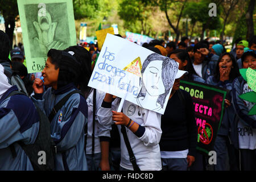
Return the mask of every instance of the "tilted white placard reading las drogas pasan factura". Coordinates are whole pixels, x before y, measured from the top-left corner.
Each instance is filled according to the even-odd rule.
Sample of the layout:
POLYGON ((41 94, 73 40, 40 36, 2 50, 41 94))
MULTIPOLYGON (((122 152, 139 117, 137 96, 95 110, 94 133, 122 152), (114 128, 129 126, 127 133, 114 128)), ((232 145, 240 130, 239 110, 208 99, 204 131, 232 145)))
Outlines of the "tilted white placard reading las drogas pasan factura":
POLYGON ((88 86, 163 114, 179 64, 108 34, 88 86))

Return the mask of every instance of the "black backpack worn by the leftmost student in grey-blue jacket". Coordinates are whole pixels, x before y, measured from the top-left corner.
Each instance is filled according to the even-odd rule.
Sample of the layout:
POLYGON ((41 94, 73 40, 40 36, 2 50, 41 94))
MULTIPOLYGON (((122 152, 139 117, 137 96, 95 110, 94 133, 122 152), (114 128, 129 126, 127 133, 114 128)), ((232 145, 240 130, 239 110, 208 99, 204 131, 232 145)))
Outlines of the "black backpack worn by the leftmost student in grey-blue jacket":
MULTIPOLYGON (((8 97, 14 96, 16 94, 23 94, 26 96, 26 94, 22 92, 13 91, 9 94, 8 97)), ((47 115, 44 114, 43 111, 39 109, 39 107, 37 107, 36 105, 35 107, 39 115, 40 122, 39 131, 38 135, 36 136, 35 142, 33 144, 24 144, 24 142, 22 141, 18 141, 15 143, 18 143, 20 147, 22 147, 22 149, 25 151, 35 171, 52 171, 55 168, 54 156, 56 154, 56 145, 51 138, 50 122, 47 115), (45 153, 40 153, 40 151, 43 151, 45 153), (46 156, 45 164, 42 163, 42 161, 40 162, 40 157, 43 155, 46 156)), ((9 147, 13 158, 15 158, 16 151, 14 143, 11 144, 9 147)))

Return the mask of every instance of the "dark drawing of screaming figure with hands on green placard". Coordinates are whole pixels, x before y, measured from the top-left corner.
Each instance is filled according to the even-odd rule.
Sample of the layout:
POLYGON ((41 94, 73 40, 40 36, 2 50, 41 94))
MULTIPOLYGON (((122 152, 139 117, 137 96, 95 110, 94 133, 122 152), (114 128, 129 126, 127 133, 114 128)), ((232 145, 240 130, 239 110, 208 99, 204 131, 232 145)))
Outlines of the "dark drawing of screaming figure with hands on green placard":
POLYGON ((65 49, 70 42, 67 3, 24 5, 31 57, 46 57, 51 48, 65 49))

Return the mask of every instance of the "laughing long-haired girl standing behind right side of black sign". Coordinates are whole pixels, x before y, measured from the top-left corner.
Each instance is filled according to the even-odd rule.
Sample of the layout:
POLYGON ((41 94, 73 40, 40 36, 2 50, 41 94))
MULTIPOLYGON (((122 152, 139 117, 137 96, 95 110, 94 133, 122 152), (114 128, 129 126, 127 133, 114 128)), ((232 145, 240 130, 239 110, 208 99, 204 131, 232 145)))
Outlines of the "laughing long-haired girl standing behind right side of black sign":
MULTIPOLYGON (((236 59, 230 53, 223 53, 217 61, 216 74, 207 79, 207 84, 232 90, 232 81, 238 76, 239 71, 236 59)), ((232 122, 230 122, 230 118, 233 118, 234 115, 230 94, 226 97, 225 104, 224 117, 222 118, 221 126, 214 143, 214 150, 217 152, 217 164, 214 165, 214 168, 217 171, 229 170, 229 164, 226 162, 228 156, 230 162, 233 160, 233 156, 228 154, 230 152, 228 148, 232 144, 230 143, 230 132, 234 127, 232 122)))

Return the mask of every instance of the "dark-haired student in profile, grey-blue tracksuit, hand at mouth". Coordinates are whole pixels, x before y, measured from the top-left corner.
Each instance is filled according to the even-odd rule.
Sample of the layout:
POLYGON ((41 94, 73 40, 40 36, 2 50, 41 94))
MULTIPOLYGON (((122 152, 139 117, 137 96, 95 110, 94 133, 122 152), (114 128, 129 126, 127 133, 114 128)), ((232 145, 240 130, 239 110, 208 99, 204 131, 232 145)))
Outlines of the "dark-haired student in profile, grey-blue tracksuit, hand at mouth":
MULTIPOLYGON (((32 100, 49 115, 64 96, 77 90, 74 82, 81 75, 81 64, 74 52, 50 49, 43 80, 36 78, 32 100), (48 86, 44 92, 43 85, 48 86)), ((51 121, 51 137, 57 146, 55 170, 86 171, 84 127, 88 118, 88 106, 84 96, 72 94, 51 121)))

